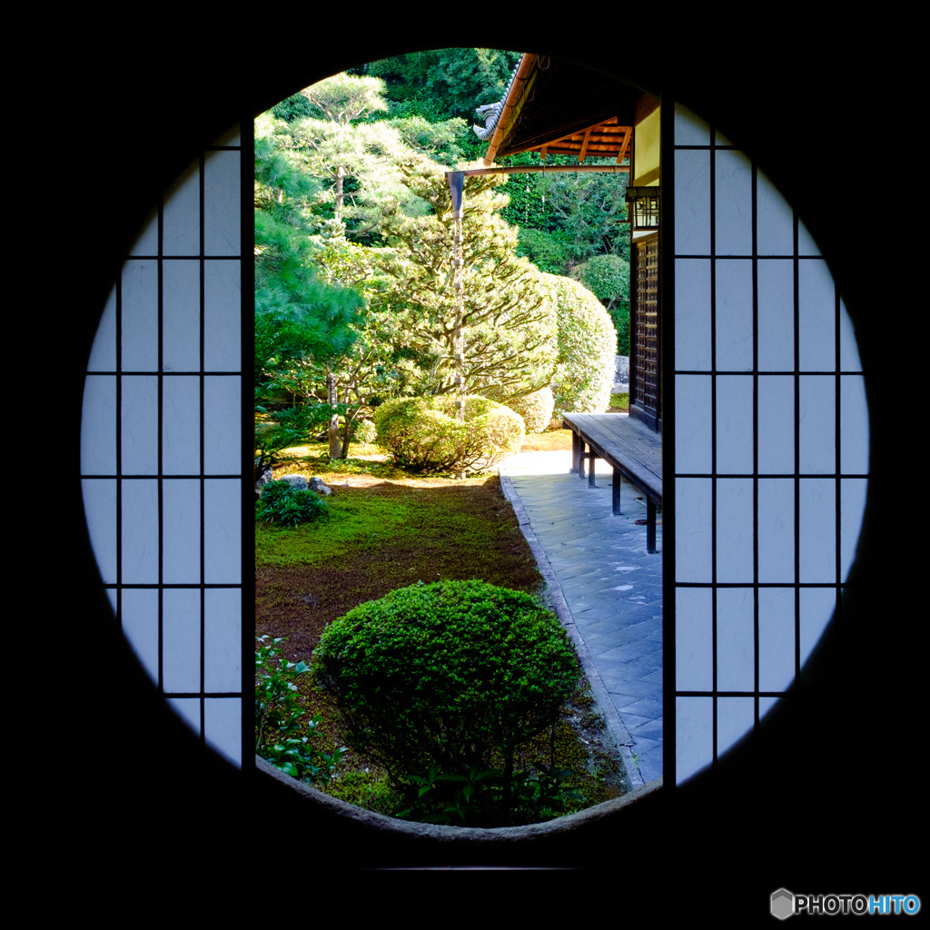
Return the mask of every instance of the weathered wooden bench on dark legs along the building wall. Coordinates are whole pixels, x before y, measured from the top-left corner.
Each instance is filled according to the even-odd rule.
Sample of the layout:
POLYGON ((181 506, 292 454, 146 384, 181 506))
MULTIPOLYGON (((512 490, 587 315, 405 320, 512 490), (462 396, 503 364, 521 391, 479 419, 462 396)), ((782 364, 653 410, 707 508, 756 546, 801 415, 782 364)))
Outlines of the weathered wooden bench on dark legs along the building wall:
POLYGON ((656 551, 656 509, 662 506, 662 437, 638 420, 617 413, 566 413, 562 425, 572 431, 572 472, 594 486, 594 459, 614 470, 613 512, 620 512, 620 476, 646 498, 646 550, 656 551), (587 449, 587 451, 586 451, 587 449))

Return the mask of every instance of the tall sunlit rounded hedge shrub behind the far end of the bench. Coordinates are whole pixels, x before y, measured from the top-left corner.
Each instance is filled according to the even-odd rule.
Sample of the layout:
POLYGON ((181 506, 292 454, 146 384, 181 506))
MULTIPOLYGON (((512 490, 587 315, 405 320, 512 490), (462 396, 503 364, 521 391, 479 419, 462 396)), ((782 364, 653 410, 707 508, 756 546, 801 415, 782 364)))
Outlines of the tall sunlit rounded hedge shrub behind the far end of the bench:
POLYGON ((587 287, 556 274, 540 274, 555 300, 559 320, 559 365, 555 410, 604 413, 614 383, 617 331, 604 305, 587 287))

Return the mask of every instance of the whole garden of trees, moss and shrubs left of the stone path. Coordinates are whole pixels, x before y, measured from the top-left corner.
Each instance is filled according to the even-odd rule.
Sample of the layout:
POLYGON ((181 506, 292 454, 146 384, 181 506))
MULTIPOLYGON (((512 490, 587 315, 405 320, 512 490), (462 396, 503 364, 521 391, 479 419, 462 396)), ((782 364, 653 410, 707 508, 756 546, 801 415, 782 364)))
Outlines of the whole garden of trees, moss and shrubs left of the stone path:
POLYGON ((466 179, 457 381, 445 171, 518 59, 374 62, 255 126, 256 751, 459 826, 625 789, 493 470, 570 447, 563 412, 624 409, 626 175, 466 179))

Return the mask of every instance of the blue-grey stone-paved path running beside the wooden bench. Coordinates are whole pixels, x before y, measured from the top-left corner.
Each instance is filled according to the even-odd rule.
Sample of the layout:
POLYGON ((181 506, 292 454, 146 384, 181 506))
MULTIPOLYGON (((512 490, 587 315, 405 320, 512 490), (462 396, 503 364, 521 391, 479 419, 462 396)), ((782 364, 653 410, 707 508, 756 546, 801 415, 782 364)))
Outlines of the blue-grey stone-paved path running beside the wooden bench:
POLYGON ((661 512, 650 555, 644 499, 623 482, 615 516, 597 465, 594 488, 569 473, 569 451, 520 453, 499 472, 636 788, 662 774, 661 512))

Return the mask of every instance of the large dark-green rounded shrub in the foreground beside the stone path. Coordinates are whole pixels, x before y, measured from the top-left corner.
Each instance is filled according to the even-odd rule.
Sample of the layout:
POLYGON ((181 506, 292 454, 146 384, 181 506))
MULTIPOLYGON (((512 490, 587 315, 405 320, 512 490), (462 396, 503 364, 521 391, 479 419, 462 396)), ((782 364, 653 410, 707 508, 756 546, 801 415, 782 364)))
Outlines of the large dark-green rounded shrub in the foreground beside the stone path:
POLYGON ((333 622, 313 653, 349 741, 392 777, 488 768, 556 718, 578 662, 523 591, 443 581, 392 591, 333 622))

